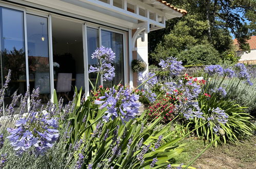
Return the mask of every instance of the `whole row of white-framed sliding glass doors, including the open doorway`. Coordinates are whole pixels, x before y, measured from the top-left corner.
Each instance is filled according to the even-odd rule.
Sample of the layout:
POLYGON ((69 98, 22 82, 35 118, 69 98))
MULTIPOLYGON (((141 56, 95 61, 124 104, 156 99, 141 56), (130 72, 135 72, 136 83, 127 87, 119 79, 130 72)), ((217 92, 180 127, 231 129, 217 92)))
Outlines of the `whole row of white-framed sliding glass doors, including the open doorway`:
POLYGON ((125 32, 82 20, 15 6, 9 8, 9 5, 0 7, 2 86, 8 70, 12 71, 5 105, 10 104, 15 93, 24 95, 28 87, 30 91, 40 89, 43 103, 51 99, 54 88, 68 100, 73 96, 74 86, 88 93, 89 79, 93 83, 96 80, 96 75, 88 74, 88 69, 99 62, 91 55, 100 46, 111 48, 116 55, 115 77, 110 82, 99 79, 97 86, 111 87, 119 82, 124 85, 124 36, 125 32))

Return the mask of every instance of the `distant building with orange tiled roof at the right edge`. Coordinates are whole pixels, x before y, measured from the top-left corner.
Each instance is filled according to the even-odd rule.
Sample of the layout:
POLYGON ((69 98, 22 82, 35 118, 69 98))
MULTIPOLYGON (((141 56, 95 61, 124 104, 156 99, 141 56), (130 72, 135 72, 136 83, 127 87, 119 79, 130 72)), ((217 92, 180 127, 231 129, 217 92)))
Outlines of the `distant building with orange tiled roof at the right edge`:
POLYGON ((250 53, 240 50, 238 40, 234 39, 234 45, 238 47, 237 55, 240 57, 239 62, 243 62, 244 64, 256 64, 256 36, 251 36, 247 43, 250 45, 250 53))

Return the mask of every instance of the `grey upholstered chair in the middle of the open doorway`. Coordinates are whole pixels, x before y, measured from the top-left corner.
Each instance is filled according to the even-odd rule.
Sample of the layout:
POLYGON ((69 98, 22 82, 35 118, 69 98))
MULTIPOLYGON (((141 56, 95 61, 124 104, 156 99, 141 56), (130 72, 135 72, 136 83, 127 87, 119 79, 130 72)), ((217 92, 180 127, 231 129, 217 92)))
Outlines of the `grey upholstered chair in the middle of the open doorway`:
MULTIPOLYGON (((63 93, 70 101, 67 93, 71 91, 72 73, 58 73, 56 92, 63 93)), ((60 95, 59 95, 60 98, 60 95)))

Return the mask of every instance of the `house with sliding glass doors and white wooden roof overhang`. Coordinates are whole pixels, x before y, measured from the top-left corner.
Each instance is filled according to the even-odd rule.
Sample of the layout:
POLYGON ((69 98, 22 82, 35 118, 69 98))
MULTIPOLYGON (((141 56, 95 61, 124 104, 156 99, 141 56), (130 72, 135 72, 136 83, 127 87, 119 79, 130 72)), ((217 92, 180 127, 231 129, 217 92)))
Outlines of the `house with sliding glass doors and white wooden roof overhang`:
POLYGON ((2 85, 11 69, 8 97, 28 86, 40 87, 47 99, 71 85, 89 94, 91 54, 105 46, 116 54, 116 76, 100 83, 136 86, 131 61, 147 62, 147 33, 186 13, 162 0, 0 0, 2 85))

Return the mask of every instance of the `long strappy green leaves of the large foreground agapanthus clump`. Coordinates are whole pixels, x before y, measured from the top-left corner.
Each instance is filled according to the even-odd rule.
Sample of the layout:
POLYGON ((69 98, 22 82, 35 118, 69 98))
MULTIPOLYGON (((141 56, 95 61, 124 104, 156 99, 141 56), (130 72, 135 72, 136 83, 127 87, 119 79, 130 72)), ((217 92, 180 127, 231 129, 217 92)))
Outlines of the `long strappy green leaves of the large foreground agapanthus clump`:
MULTIPOLYGON (((104 93, 104 89, 100 89, 100 93, 104 93)), ((99 93, 99 92, 98 92, 99 93)), ((102 117, 105 115, 106 109, 98 110, 95 107, 93 100, 94 97, 89 97, 83 105, 80 105, 81 92, 76 95, 74 100, 75 109, 69 114, 68 121, 70 121, 69 130, 71 136, 67 142, 67 149, 69 144, 75 145, 80 139, 84 140, 80 149, 74 153, 73 159, 77 159, 78 153, 83 153, 85 156, 84 166, 92 164, 93 168, 97 165, 110 168, 150 168, 149 164, 152 159, 157 157, 157 167, 163 167, 168 165, 168 160, 179 155, 182 151, 182 145, 173 146, 180 139, 176 138, 169 141, 155 151, 151 151, 154 147, 154 143, 160 135, 163 135, 163 139, 168 137, 168 126, 163 126, 161 131, 155 130, 159 124, 161 118, 156 119, 152 123, 148 123, 149 116, 145 111, 139 118, 130 120, 126 123, 122 122, 120 118, 103 122, 102 117), (86 121, 83 122, 84 117, 86 121), (92 137, 92 133, 96 130, 96 125, 102 124, 101 132, 97 133, 95 137, 92 137), (115 132, 117 131, 117 134, 115 132), (104 137, 107 134, 107 139, 104 137), (142 139, 143 138, 143 139, 142 139), (119 139, 120 144, 120 156, 113 156, 112 149, 115 145, 115 140, 119 139), (132 140, 130 149, 128 149, 128 142, 132 140), (142 147, 138 147, 138 142, 141 140, 144 146, 150 144, 150 151, 147 152, 145 162, 140 165, 140 161, 136 159, 136 155, 142 150, 142 147), (135 150, 135 152, 133 152, 135 150), (113 156, 112 159, 109 158, 113 156)), ((70 167, 75 165, 76 160, 72 160, 70 167)))

